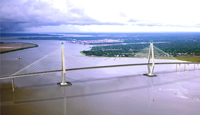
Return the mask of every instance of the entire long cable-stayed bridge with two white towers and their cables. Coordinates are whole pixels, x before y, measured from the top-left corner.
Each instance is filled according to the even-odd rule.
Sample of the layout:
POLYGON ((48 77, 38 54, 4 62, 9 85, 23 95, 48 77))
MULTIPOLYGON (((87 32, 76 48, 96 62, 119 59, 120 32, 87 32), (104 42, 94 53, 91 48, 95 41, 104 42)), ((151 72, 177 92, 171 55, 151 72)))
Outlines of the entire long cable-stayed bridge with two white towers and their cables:
MULTIPOLYGON (((154 62, 154 56, 155 56, 154 48, 155 47, 153 46, 153 43, 151 42, 150 43, 150 48, 145 50, 145 52, 148 53, 148 55, 147 55, 148 56, 148 62, 147 63, 106 65, 106 66, 93 66, 93 67, 81 67, 81 68, 65 69, 64 45, 62 43, 61 56, 60 56, 61 57, 61 61, 62 61, 61 63, 56 63, 56 64, 53 64, 53 65, 49 66, 46 63, 51 63, 51 61, 50 61, 51 59, 50 60, 46 60, 45 58, 44 59, 40 59, 42 61, 45 61, 45 64, 44 63, 38 64, 37 62, 40 61, 40 60, 38 60, 38 61, 34 62, 33 64, 25 67, 24 69, 12 74, 12 75, 1 76, 0 79, 12 78, 12 84, 13 84, 13 90, 14 90, 14 78, 32 76, 32 75, 39 75, 39 74, 48 74, 48 73, 61 72, 62 73, 62 82, 58 83, 58 85, 59 86, 68 86, 68 85, 71 85, 71 83, 65 81, 65 77, 66 77, 65 73, 66 73, 66 71, 76 71, 76 70, 86 70, 86 69, 99 69, 99 68, 113 68, 113 67, 126 67, 126 66, 142 66, 142 65, 144 66, 144 65, 146 65, 148 73, 144 74, 144 75, 146 75, 148 77, 154 77, 154 76, 156 76, 153 73, 155 65, 176 64, 176 72, 180 72, 181 64, 184 65, 184 71, 188 71, 189 70, 189 65, 191 65, 191 64, 194 65, 194 70, 198 70, 198 68, 199 68, 199 62, 162 62, 162 63, 155 63, 154 62), (37 67, 39 67, 39 68, 37 68, 37 69, 39 69, 39 71, 37 69, 35 69, 34 66, 36 66, 36 65, 37 65, 37 67), (46 67, 46 69, 42 68, 44 66, 46 67)), ((155 49, 158 49, 158 48, 155 48, 155 49)), ((160 49, 158 49, 157 52, 163 53, 163 51, 160 50, 160 49)), ((159 55, 159 54, 156 54, 156 55, 159 55)), ((166 56, 170 57, 167 54, 166 54, 166 56)), ((49 57, 51 57, 51 56, 49 56, 49 57)))

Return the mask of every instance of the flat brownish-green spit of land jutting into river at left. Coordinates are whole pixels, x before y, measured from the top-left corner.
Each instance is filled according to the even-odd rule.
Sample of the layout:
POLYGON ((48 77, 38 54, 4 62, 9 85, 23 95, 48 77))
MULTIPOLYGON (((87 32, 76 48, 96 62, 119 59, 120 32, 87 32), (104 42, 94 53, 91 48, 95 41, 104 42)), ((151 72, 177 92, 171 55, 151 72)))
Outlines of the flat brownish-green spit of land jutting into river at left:
POLYGON ((38 45, 32 43, 21 43, 21 42, 0 42, 0 54, 17 50, 24 50, 33 47, 38 47, 38 45))

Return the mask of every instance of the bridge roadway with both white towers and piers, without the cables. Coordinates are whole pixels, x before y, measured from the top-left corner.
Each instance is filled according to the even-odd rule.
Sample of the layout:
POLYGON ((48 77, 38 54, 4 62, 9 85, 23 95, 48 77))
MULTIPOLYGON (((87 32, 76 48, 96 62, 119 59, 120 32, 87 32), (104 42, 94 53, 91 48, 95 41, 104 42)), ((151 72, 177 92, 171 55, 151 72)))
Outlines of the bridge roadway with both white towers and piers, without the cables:
POLYGON ((42 71, 42 72, 34 72, 34 73, 25 73, 25 74, 1 76, 0 79, 12 78, 12 88, 13 88, 13 91, 14 91, 14 78, 18 78, 18 77, 25 77, 25 76, 32 76, 32 75, 40 75, 40 74, 61 72, 62 73, 62 82, 57 83, 58 86, 70 86, 72 84, 70 82, 66 82, 65 81, 66 71, 147 65, 148 73, 147 74, 143 74, 143 75, 148 76, 148 77, 155 77, 155 76, 157 76, 157 75, 153 74, 155 65, 176 64, 176 72, 178 73, 178 72, 180 72, 181 64, 184 64, 184 71, 188 71, 189 70, 189 65, 190 64, 194 64, 194 70, 198 71, 199 64, 200 64, 200 62, 162 62, 162 63, 155 63, 154 62, 154 48, 153 48, 153 43, 152 42, 150 43, 150 48, 149 48, 148 63, 106 65, 106 66, 93 66, 93 67, 81 67, 81 68, 65 69, 65 57, 64 57, 64 45, 63 45, 63 43, 62 43, 62 47, 61 47, 61 60, 62 60, 62 66, 61 66, 60 70, 42 71), (152 62, 150 62, 150 60, 152 60, 152 62), (197 68, 195 67, 195 65, 197 65, 197 68), (150 66, 151 66, 151 69, 150 69, 150 66), (186 66, 187 66, 187 70, 186 70, 186 66))

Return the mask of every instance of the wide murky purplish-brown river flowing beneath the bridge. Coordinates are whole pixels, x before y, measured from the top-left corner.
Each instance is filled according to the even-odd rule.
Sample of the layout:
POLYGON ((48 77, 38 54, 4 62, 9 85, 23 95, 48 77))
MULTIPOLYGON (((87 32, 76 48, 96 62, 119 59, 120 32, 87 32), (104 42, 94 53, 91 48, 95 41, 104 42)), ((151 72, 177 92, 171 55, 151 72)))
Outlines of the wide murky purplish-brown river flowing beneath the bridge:
MULTIPOLYGON (((13 40, 12 40, 13 42, 13 40)), ((16 40, 39 47, 0 54, 0 78, 61 69, 61 42, 16 40), (21 57, 22 59, 18 59, 21 57)), ((87 57, 91 46, 64 42, 66 68, 146 63, 139 58, 87 57)), ((155 60, 155 62, 178 62, 155 60)), ((156 65, 157 77, 146 77, 147 66, 66 72, 72 86, 59 87, 61 73, 0 79, 2 115, 199 115, 200 70, 189 65, 156 65)))

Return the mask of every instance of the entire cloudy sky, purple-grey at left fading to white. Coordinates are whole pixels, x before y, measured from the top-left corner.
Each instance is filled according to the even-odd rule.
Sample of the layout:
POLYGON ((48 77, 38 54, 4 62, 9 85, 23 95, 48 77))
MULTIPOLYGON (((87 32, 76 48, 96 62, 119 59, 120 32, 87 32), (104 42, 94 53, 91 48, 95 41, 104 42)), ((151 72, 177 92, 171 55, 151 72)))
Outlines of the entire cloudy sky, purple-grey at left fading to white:
POLYGON ((200 32, 199 0, 1 0, 1 32, 200 32))

